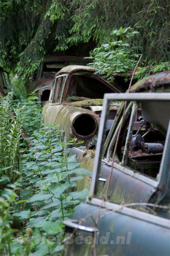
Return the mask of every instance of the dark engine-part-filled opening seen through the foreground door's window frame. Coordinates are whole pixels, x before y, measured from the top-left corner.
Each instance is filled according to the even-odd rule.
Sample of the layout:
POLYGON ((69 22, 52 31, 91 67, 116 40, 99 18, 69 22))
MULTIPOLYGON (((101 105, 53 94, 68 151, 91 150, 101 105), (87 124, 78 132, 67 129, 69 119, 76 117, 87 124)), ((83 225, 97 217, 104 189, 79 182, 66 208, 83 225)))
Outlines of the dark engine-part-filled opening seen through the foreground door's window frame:
MULTIPOLYGON (((138 113, 140 111, 138 110, 138 113)), ((136 113, 135 113, 136 115, 136 113)), ((129 125, 129 117, 123 123, 121 135, 117 147, 115 161, 121 162, 126 145, 126 137, 129 125)), ((136 135, 137 127, 140 127, 142 116, 136 115, 133 123, 132 138, 127 152, 126 167, 138 171, 151 178, 156 178, 159 173, 165 136, 149 122, 145 122, 136 135)))

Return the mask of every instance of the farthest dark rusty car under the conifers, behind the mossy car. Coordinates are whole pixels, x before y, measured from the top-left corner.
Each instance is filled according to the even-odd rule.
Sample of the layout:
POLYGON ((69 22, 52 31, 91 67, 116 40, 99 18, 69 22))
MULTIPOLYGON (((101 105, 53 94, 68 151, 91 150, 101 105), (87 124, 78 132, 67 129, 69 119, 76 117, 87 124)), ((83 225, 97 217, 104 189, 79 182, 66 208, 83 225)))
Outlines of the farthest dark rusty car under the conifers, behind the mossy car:
POLYGON ((87 65, 90 62, 84 57, 77 56, 48 56, 41 63, 37 72, 31 77, 27 85, 28 94, 38 92, 39 101, 48 101, 53 79, 58 71, 68 65, 87 65))

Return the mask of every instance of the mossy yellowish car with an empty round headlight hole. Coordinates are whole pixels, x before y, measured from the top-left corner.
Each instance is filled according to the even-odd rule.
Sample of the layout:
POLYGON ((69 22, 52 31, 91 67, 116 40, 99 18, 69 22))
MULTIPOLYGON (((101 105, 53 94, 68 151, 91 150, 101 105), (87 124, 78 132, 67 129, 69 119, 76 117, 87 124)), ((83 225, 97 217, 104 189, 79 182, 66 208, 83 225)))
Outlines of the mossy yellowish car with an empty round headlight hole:
MULTIPOLYGON (((97 139, 104 93, 119 92, 95 73, 94 68, 70 65, 61 69, 53 80, 52 90, 43 107, 45 124, 60 124, 65 141, 77 138, 86 148, 93 148, 97 139)), ((109 130, 119 103, 110 106, 109 130)))

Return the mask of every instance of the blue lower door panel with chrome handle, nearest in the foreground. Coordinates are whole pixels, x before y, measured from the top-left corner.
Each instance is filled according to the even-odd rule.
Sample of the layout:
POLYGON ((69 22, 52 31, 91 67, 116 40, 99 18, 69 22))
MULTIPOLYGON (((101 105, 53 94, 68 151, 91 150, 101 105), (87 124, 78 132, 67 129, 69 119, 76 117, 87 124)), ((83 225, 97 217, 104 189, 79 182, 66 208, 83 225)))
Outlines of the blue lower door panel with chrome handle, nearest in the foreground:
POLYGON ((100 256, 169 256, 168 223, 165 227, 160 225, 163 218, 156 217, 155 223, 156 221, 150 221, 150 214, 147 214, 146 221, 139 217, 139 211, 128 211, 135 211, 136 216, 109 211, 107 208, 101 208, 99 211, 98 206, 90 204, 77 206, 72 220, 77 220, 76 223, 81 221, 81 225, 77 229, 71 222, 66 226, 66 233, 75 233, 69 240, 70 243, 65 242, 62 256, 94 255, 94 246, 96 255, 100 256), (100 218, 102 215, 105 217, 100 218), (98 231, 94 243, 95 229, 98 231))

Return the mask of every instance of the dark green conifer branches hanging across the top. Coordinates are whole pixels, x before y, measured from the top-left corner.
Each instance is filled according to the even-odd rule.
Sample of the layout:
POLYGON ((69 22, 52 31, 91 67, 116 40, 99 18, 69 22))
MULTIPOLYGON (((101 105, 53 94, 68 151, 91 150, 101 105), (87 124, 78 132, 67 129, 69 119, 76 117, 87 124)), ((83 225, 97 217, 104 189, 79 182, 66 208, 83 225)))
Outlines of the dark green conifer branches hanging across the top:
POLYGON ((88 55, 121 27, 139 32, 133 49, 145 64, 165 62, 169 7, 168 0, 1 0, 0 65, 29 75, 44 55, 88 55))

